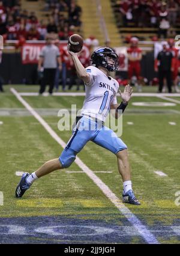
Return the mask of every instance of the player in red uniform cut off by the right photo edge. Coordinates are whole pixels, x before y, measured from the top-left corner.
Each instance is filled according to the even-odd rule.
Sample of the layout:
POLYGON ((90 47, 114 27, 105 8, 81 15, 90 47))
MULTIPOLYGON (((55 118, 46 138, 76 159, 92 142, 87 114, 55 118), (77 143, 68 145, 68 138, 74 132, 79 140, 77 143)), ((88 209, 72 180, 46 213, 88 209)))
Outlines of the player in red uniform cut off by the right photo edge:
POLYGON ((177 86, 178 83, 178 66, 179 66, 179 60, 178 60, 178 52, 179 50, 175 47, 175 42, 172 38, 168 40, 169 44, 169 51, 172 52, 173 58, 172 58, 172 81, 173 81, 173 87, 176 93, 180 93, 180 90, 177 86))

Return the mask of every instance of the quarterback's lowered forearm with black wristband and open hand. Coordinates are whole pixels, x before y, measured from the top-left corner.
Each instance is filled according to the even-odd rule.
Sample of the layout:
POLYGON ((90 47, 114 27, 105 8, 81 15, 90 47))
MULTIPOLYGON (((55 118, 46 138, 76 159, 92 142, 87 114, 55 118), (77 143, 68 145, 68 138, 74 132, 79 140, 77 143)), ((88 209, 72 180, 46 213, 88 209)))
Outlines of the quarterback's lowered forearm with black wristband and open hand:
POLYGON ((122 113, 125 111, 125 108, 128 105, 128 102, 131 99, 131 94, 133 93, 133 88, 130 87, 130 85, 126 85, 124 88, 124 93, 121 93, 121 90, 119 90, 119 94, 121 96, 122 102, 121 104, 112 104, 110 105, 110 109, 115 109, 116 113, 115 113, 115 118, 118 119, 120 117, 121 114, 119 114, 118 112, 122 111, 122 113))

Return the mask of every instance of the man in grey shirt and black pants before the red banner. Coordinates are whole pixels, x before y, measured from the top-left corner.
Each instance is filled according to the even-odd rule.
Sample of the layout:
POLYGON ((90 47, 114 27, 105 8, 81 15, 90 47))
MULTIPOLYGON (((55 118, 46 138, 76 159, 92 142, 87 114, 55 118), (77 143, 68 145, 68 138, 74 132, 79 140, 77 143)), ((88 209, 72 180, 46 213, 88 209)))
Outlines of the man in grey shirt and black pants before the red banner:
POLYGON ((38 71, 41 72, 41 66, 44 67, 43 79, 40 87, 40 94, 46 90, 46 85, 49 84, 49 94, 53 93, 55 82, 56 68, 59 64, 59 69, 62 69, 59 49, 53 45, 52 38, 46 38, 46 46, 43 47, 40 53, 38 62, 38 71))

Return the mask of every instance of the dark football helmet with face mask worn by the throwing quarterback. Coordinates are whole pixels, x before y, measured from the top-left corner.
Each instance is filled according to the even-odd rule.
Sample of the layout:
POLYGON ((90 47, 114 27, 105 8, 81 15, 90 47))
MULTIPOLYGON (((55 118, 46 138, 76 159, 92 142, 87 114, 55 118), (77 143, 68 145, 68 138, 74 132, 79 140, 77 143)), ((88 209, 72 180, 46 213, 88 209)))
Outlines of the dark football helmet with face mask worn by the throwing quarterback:
POLYGON ((109 72, 116 71, 119 67, 118 55, 109 47, 101 47, 95 50, 92 53, 91 60, 96 67, 104 67, 109 72))

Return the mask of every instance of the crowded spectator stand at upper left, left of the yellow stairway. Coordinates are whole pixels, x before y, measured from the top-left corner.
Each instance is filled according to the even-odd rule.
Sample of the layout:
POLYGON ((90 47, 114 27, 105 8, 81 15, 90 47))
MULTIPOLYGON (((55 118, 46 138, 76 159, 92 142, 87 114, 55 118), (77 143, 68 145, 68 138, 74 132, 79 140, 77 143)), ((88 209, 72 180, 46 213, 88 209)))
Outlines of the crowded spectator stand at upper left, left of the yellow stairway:
POLYGON ((51 33, 67 40, 81 32, 81 13, 74 0, 0 1, 0 34, 5 40, 44 40, 51 33))

